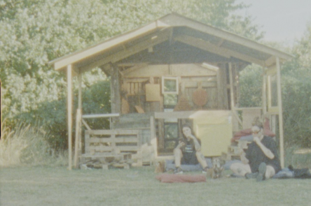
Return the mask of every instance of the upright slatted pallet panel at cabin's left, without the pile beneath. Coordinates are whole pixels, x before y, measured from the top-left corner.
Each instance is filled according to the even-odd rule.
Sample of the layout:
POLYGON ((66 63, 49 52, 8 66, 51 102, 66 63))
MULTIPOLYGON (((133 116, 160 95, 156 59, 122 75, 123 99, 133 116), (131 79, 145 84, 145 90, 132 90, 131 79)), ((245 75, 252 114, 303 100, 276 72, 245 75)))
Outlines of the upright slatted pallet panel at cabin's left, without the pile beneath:
POLYGON ((133 165, 142 165, 141 131, 139 130, 88 130, 85 131, 85 154, 114 154, 130 152, 133 165))

